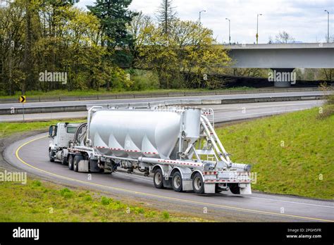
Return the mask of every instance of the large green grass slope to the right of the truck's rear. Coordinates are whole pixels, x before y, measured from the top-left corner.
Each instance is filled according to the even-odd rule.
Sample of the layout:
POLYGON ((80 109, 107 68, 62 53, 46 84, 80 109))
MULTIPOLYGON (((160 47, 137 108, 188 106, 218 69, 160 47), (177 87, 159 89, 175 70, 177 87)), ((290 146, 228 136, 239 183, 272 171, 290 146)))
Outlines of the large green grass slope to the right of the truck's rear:
POLYGON ((319 114, 313 108, 222 127, 217 133, 234 162, 253 165, 253 189, 333 199, 333 111, 326 106, 319 114))

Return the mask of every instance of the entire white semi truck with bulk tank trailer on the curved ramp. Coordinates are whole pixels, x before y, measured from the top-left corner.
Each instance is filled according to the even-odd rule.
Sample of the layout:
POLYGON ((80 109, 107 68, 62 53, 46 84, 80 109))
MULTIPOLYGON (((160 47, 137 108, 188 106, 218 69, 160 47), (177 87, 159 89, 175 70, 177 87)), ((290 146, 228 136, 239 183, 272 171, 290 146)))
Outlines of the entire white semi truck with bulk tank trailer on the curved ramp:
POLYGON ((231 161, 211 118, 201 108, 93 106, 87 122, 49 128, 49 158, 75 172, 152 175, 159 189, 252 194, 251 165, 231 161))

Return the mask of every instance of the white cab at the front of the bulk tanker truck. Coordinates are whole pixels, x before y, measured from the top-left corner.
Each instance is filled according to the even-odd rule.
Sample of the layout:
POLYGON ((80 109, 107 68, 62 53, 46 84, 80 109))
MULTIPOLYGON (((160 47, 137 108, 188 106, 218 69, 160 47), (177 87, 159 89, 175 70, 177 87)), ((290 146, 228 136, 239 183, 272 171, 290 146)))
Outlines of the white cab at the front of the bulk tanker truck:
POLYGON ((49 160, 61 161, 64 165, 67 163, 68 146, 73 142, 75 132, 80 123, 58 122, 49 127, 49 160))

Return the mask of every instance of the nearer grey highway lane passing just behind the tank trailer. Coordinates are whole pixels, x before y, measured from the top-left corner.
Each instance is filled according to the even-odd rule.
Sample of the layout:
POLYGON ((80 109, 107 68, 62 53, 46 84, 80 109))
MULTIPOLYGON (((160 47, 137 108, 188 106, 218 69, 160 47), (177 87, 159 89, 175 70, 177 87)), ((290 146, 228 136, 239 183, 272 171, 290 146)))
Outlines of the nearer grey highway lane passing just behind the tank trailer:
MULTIPOLYGON (((274 115, 292 111, 304 110, 316 106, 321 106, 324 101, 283 101, 264 103, 235 103, 226 105, 208 105, 202 108, 213 108, 216 122, 228 122, 243 118, 257 118, 266 115, 274 115)), ((85 118, 86 111, 66 112, 66 113, 37 113, 26 114, 25 120, 54 120, 64 118, 85 118)), ((23 120, 23 115, 0 115, 0 122, 19 122, 23 120)))

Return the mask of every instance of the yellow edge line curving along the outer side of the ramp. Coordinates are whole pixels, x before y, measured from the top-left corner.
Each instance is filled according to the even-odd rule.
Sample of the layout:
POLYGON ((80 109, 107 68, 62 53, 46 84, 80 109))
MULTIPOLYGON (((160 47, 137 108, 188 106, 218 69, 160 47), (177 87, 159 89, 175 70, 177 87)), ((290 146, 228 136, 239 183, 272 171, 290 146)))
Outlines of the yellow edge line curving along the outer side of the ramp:
POLYGON ((140 194, 142 196, 152 196, 152 197, 156 197, 156 198, 159 198, 159 199, 168 199, 168 200, 180 201, 180 202, 184 202, 184 203, 194 203, 194 204, 200 204, 200 205, 204 205, 204 206, 214 206, 214 207, 218 207, 218 208, 227 208, 227 209, 232 209, 232 210, 237 210, 237 211, 246 211, 246 212, 249 212, 249 213, 261 213, 261 214, 265 214, 265 215, 276 215, 276 216, 283 216, 283 217, 288 217, 288 218, 299 218, 299 219, 304 219, 304 220, 317 220, 317 221, 324 221, 324 222, 334 222, 334 220, 322 220, 322 219, 318 219, 318 218, 309 218, 309 217, 303 217, 303 216, 298 216, 298 215, 287 215, 287 214, 283 214, 283 213, 271 213, 271 212, 266 212, 266 211, 252 210, 252 209, 248 209, 248 208, 237 208, 237 207, 233 207, 233 206, 224 206, 224 205, 218 205, 218 204, 214 204, 214 203, 202 203, 202 202, 199 202, 199 201, 176 199, 176 198, 169 197, 169 196, 159 196, 159 195, 148 194, 148 193, 139 192, 139 191, 131 191, 131 190, 128 190, 128 189, 122 189, 122 188, 118 188, 118 187, 109 187, 109 186, 106 186, 106 185, 103 185, 103 184, 97 184, 97 183, 87 182, 87 181, 83 181, 83 180, 76 180, 76 179, 66 177, 66 176, 63 176, 63 175, 57 175, 53 172, 48 172, 46 170, 36 168, 35 166, 30 165, 29 163, 26 163, 25 161, 22 160, 22 158, 20 158, 20 156, 18 154, 18 152, 20 151, 20 149, 23 148, 23 146, 26 146, 27 144, 30 144, 31 142, 35 142, 35 141, 37 141, 39 139, 43 139, 45 137, 47 137, 47 136, 32 139, 29 142, 25 142, 24 144, 20 145, 18 147, 18 149, 16 150, 16 158, 18 158, 18 160, 21 161, 23 164, 29 166, 30 168, 34 168, 35 170, 39 170, 41 172, 46 172, 49 175, 54 175, 54 176, 60 177, 62 179, 71 180, 71 181, 75 181, 75 182, 80 182, 80 183, 83 183, 83 184, 90 184, 90 185, 94 185, 96 187, 104 187, 104 188, 108 188, 108 189, 114 189, 114 190, 117 190, 117 191, 132 193, 132 194, 140 194))

